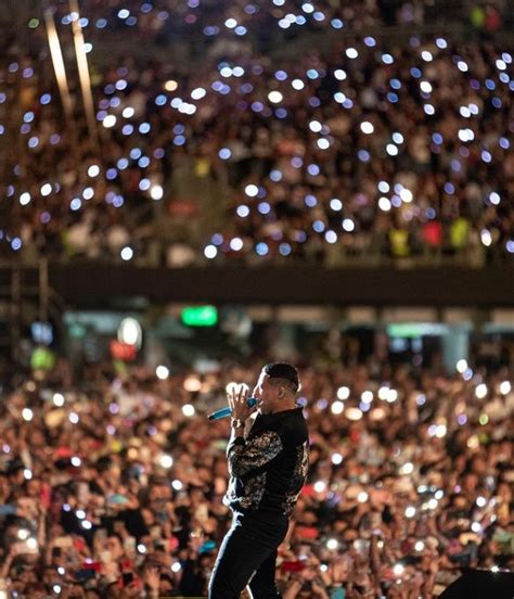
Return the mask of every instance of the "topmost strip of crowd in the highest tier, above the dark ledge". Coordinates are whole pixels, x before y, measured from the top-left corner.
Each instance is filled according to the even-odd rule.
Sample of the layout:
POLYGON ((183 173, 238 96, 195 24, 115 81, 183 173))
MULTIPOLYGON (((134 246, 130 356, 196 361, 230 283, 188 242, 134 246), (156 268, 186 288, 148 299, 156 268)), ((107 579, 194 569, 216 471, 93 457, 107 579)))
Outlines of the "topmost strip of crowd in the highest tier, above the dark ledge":
MULTIPOLYGON (((272 0, 270 5, 246 0, 222 5, 213 0, 83 0, 79 8, 87 20, 83 26, 89 27, 93 38, 102 33, 119 37, 128 33, 138 41, 150 40, 158 44, 180 42, 181 38, 187 38, 185 43, 194 39, 200 44, 223 37, 235 40, 249 38, 259 49, 267 49, 273 43, 273 29, 277 33, 293 26, 294 31, 294 25, 309 31, 326 26, 362 30, 388 25, 411 27, 445 24, 449 20, 460 18, 473 24, 478 30, 493 33, 501 27, 503 18, 510 16, 509 7, 498 0, 348 0, 343 4, 331 0, 313 3, 272 0), (301 18, 287 26, 283 17, 291 12, 301 18)), ((70 23, 69 9, 64 1, 51 7, 63 25, 70 23)), ((37 2, 33 2, 28 9, 28 16, 40 17, 37 2)))

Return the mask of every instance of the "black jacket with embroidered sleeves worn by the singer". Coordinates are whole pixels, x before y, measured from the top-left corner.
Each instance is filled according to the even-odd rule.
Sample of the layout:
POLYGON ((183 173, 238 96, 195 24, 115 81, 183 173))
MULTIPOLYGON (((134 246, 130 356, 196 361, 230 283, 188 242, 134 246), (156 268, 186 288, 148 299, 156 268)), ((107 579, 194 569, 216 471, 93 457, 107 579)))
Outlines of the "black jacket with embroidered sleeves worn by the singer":
POLYGON ((230 483, 223 498, 234 511, 288 515, 304 486, 309 437, 301 408, 258 415, 246 439, 227 447, 230 483))

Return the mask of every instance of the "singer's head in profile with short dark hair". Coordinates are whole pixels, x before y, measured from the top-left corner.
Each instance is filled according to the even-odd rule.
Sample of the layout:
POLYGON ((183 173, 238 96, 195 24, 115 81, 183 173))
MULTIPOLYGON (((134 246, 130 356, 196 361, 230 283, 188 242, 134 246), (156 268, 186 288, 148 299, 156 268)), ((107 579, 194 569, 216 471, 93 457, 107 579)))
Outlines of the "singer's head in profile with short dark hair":
POLYGON ((293 409, 299 388, 298 371, 294 366, 272 362, 262 368, 253 395, 261 413, 273 413, 293 409))

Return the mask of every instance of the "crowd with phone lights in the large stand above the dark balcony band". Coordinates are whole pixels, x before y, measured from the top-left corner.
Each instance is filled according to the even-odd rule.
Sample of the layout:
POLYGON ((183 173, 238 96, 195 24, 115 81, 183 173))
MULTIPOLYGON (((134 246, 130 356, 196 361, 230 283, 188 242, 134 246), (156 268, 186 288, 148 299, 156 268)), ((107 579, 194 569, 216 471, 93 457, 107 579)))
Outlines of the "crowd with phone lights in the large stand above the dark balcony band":
MULTIPOLYGON (((159 20, 157 4, 141 23, 145 14, 159 20)), ((102 5, 119 21, 120 2, 102 5)), ((254 16, 279 20, 257 21, 274 44, 259 49, 227 37, 235 13, 189 5, 223 27, 211 43, 203 35, 201 52, 191 38, 197 61, 157 46, 140 52, 130 26, 116 35, 132 44, 111 55, 114 34, 98 20, 93 27, 88 11, 97 4, 85 3, 95 132, 73 66, 75 16, 64 4, 56 21, 72 120, 48 48, 35 41, 46 39, 42 18, 29 21, 25 47, 3 47, 2 254, 170 266, 512 259, 509 48, 494 38, 381 39, 367 34, 363 17, 323 46, 306 35, 304 21, 317 14, 309 3, 301 14, 279 0, 257 15, 246 14, 253 4, 234 7, 248 30, 254 16)), ((363 10, 380 14, 380 3, 363 10)), ((339 21, 316 23, 335 30, 339 21)))

